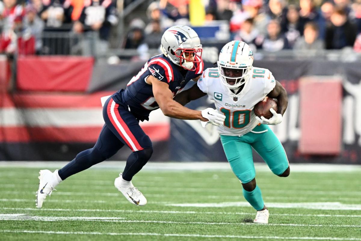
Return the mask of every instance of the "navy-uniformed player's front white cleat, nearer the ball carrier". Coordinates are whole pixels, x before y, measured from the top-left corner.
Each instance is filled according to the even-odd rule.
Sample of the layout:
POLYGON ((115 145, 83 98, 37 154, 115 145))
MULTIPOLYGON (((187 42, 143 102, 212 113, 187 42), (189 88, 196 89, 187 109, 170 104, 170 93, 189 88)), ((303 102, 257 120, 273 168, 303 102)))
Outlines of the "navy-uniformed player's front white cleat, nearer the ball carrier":
POLYGON ((122 173, 119 173, 119 177, 115 178, 114 186, 128 199, 129 202, 143 206, 147 204, 147 199, 144 195, 133 186, 130 182, 129 186, 122 186, 122 173))

